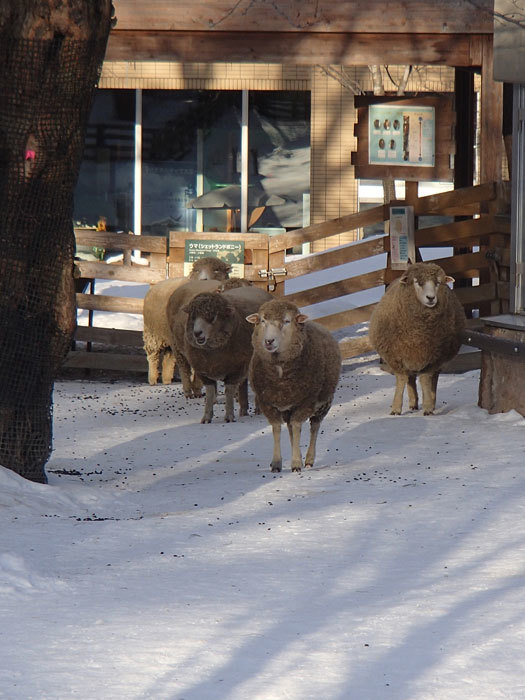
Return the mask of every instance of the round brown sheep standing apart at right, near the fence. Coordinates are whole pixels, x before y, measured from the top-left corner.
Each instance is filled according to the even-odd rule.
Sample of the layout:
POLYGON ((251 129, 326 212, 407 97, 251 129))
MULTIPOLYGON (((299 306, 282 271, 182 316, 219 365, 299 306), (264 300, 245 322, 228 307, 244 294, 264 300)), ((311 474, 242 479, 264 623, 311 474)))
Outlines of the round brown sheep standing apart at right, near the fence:
POLYGON ((447 286, 452 282, 435 263, 409 265, 372 313, 370 343, 396 378, 391 415, 401 414, 405 385, 410 409, 418 408, 418 376, 423 414, 434 413, 439 373, 457 354, 466 323, 461 303, 447 286))

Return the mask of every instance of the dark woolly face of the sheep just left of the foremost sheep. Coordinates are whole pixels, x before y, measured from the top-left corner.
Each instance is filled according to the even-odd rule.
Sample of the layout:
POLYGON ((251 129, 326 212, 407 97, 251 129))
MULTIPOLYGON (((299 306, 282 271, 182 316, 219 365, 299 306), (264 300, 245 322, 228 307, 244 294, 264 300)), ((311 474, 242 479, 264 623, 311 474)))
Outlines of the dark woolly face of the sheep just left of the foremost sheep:
POLYGON ((221 348, 230 340, 235 310, 222 295, 199 294, 183 310, 188 314, 186 338, 193 347, 221 348))

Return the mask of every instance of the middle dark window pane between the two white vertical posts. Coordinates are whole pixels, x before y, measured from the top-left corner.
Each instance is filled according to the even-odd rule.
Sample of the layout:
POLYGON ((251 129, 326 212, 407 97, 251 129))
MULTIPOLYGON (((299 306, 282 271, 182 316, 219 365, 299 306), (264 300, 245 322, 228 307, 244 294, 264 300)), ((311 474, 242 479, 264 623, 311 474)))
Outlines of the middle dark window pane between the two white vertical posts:
MULTIPOLYGON (((188 203, 239 184, 240 124, 239 91, 144 91, 143 233, 197 230, 198 210, 188 203)), ((220 201, 203 206, 203 230, 225 231, 227 209, 220 201)))

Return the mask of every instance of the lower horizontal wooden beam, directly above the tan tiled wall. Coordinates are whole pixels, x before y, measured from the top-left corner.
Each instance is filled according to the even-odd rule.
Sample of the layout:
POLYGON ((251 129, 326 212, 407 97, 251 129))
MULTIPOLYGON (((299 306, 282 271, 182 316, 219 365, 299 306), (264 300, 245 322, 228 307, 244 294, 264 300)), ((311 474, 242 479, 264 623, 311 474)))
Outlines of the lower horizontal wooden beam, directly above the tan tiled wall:
MULTIPOLYGON (((375 18, 377 24, 377 17, 375 18)), ((148 26, 148 25, 144 25, 148 26)), ((368 65, 391 63, 472 66, 469 34, 356 34, 119 30, 110 34, 107 61, 368 65)))

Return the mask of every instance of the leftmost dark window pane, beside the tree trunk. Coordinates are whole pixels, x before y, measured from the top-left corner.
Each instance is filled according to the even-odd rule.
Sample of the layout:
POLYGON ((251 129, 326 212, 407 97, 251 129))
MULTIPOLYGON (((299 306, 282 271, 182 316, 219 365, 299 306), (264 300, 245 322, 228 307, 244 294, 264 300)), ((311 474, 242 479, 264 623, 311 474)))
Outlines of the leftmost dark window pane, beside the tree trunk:
POLYGON ((135 91, 98 90, 75 190, 74 220, 133 230, 135 91))

